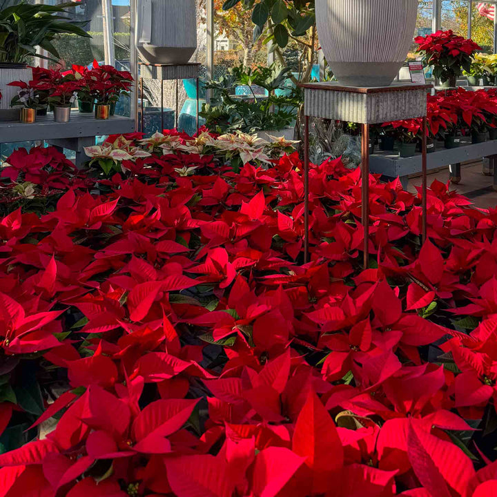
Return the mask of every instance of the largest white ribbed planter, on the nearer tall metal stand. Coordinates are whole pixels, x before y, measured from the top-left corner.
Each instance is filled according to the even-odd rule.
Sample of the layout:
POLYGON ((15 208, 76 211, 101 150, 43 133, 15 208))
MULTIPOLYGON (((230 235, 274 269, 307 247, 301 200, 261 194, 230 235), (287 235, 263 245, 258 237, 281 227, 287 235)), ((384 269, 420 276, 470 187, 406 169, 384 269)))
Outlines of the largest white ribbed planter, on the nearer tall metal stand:
POLYGON ((411 46, 418 0, 315 0, 318 38, 339 83, 388 86, 411 46))

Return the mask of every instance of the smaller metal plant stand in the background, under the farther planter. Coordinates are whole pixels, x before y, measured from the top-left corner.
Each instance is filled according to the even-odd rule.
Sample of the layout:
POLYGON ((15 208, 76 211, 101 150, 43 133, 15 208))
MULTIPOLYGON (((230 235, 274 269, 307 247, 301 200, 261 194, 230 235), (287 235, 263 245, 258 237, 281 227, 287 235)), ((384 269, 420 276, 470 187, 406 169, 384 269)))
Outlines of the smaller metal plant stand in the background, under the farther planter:
MULTIPOLYGON (((199 62, 188 62, 188 64, 149 64, 148 62, 139 62, 139 95, 140 95, 140 131, 144 133, 144 79, 159 79, 161 82, 161 130, 164 130, 164 81, 176 81, 176 113, 175 128, 179 121, 179 79, 195 79, 197 81, 197 132, 199 129, 199 62)), ((138 111, 138 109, 137 109, 138 111)))

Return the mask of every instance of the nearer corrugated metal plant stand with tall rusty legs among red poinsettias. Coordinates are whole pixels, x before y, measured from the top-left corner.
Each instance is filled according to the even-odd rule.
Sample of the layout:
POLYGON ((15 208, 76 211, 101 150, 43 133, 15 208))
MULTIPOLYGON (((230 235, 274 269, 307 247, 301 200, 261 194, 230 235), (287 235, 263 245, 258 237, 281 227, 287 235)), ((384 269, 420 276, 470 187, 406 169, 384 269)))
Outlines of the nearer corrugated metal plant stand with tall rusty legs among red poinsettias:
POLYGON ((398 119, 422 117, 422 242, 427 236, 427 92, 428 84, 393 83, 359 88, 336 82, 306 83, 304 88, 304 262, 309 262, 309 117, 361 124, 361 223, 364 269, 369 259, 369 128, 398 119))

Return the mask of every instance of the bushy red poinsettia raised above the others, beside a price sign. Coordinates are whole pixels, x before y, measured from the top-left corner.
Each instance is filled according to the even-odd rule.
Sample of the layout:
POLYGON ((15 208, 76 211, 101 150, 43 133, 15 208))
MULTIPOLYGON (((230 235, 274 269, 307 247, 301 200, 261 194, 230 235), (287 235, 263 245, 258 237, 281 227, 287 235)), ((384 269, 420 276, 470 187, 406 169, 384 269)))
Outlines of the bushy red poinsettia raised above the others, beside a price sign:
POLYGON ((465 39, 452 32, 437 31, 425 37, 416 37, 416 53, 425 66, 433 66, 433 76, 440 78, 443 86, 455 87, 462 70, 471 71, 472 57, 480 46, 472 39, 465 39))

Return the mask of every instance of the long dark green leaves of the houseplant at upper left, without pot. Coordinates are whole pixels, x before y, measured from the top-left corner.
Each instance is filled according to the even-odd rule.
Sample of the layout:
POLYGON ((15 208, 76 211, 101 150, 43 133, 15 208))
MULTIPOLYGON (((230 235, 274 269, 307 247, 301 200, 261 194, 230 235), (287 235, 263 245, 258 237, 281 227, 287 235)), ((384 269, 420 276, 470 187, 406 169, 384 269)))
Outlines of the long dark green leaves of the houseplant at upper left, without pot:
POLYGON ((59 57, 52 40, 63 33, 90 37, 83 29, 87 21, 71 21, 67 8, 77 3, 49 6, 21 1, 0 11, 0 62, 25 63, 30 57, 52 59, 59 57), (52 57, 36 52, 43 48, 52 57))

